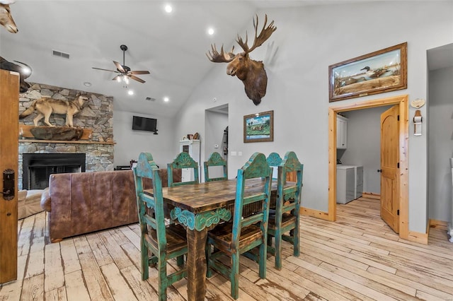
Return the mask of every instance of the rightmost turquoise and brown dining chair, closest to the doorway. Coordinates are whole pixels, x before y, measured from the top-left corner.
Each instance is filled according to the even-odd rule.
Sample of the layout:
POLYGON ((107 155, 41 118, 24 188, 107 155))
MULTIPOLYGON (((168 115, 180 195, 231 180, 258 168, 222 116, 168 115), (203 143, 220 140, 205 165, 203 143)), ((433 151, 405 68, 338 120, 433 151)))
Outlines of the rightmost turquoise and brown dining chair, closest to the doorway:
MULTIPOLYGON (((288 151, 283 159, 271 154, 268 163, 278 168, 277 176, 277 201, 275 210, 269 214, 268 225, 268 252, 275 256, 275 268, 282 269, 282 241, 293 244, 294 256, 299 256, 299 223, 300 223, 300 196, 302 190, 302 175, 304 165, 299 162, 293 151, 288 151), (296 182, 287 184, 287 174, 296 173, 296 182), (274 237, 272 244, 271 237, 274 237)), ((277 154, 278 155, 278 154, 277 154)))

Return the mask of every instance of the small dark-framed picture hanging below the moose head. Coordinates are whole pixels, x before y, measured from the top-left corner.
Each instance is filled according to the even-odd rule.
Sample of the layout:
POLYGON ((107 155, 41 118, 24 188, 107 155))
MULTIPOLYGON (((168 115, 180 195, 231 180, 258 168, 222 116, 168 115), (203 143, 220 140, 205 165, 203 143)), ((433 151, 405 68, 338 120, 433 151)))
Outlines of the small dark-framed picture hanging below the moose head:
POLYGON ((274 141, 274 111, 243 117, 243 142, 274 141))

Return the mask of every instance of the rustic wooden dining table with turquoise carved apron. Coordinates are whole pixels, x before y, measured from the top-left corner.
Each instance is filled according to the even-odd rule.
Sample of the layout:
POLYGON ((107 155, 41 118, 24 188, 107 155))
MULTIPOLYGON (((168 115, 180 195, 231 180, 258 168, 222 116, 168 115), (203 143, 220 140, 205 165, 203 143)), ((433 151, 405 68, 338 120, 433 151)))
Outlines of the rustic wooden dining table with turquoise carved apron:
MULTIPOLYGON (((247 179, 244 190, 246 196, 262 191, 264 182, 260 178, 247 179)), ((144 193, 152 196, 152 189, 144 190, 144 193)), ((236 199, 236 179, 163 187, 162 194, 168 217, 183 225, 187 232, 188 300, 205 300, 207 231, 222 221, 231 220, 236 199)), ((276 195, 277 180, 274 179, 270 196, 271 207, 275 204, 276 195)), ((243 214, 253 214, 253 211, 259 209, 251 204, 244 208, 243 214)))

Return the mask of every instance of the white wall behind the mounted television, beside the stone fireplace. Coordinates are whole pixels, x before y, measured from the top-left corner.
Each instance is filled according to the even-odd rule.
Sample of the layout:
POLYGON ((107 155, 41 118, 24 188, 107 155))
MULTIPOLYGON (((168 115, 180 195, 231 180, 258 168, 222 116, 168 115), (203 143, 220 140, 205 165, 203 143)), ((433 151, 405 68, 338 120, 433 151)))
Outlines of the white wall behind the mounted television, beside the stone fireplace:
POLYGON ((129 165, 130 160, 137 160, 139 154, 148 152, 160 168, 166 168, 167 163, 173 161, 178 154, 179 147, 175 138, 173 120, 166 117, 159 117, 147 114, 131 112, 113 113, 113 138, 115 140, 116 165, 129 165), (158 135, 151 131, 132 131, 132 116, 149 117, 157 119, 158 135))

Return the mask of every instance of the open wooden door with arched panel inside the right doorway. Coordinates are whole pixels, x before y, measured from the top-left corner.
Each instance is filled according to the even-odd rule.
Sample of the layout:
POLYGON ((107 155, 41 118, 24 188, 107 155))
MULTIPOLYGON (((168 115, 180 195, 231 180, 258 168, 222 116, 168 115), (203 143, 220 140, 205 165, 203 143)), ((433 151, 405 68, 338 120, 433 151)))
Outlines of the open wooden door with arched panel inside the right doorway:
POLYGON ((381 218, 399 232, 399 107, 381 114, 381 218))

